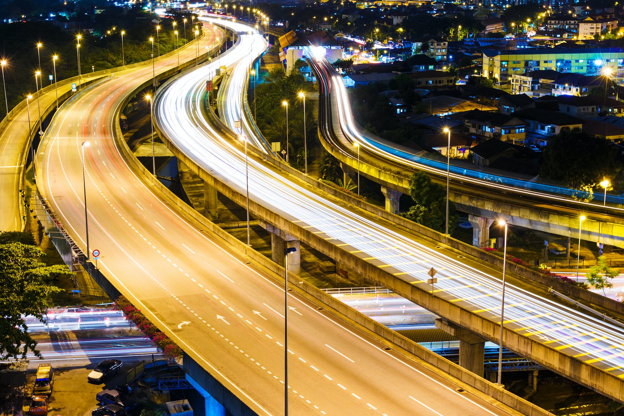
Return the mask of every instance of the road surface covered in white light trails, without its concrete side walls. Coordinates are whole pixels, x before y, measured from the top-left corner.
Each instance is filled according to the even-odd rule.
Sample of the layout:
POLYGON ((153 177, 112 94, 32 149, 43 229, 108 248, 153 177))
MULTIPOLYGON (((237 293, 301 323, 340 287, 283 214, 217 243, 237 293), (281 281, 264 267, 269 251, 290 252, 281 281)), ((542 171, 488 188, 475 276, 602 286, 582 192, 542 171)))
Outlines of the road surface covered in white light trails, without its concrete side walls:
MULTIPOLYGON (((251 37, 241 36, 237 48, 245 52, 253 48, 251 37)), ((232 57, 230 66, 240 59, 235 53, 222 56, 222 64, 228 56, 232 57)), ((210 126, 197 111, 202 82, 208 72, 209 67, 197 69, 161 90, 155 101, 155 122, 198 166, 244 194, 244 151, 210 126)), ((241 107, 245 79, 245 72, 232 71, 228 83, 220 89, 227 103, 220 116, 232 131, 237 131, 235 122, 240 117, 237 109, 241 107)), ((243 134, 253 132, 244 130, 243 134)), ((261 159, 251 157, 248 166, 252 201, 422 289, 432 290, 427 284, 427 272, 434 267, 438 279, 434 294, 499 324, 501 282, 487 265, 470 264, 454 252, 332 201, 313 187, 291 181, 261 159)), ((549 297, 508 283, 504 325, 562 354, 624 376, 624 334, 620 328, 549 297)))

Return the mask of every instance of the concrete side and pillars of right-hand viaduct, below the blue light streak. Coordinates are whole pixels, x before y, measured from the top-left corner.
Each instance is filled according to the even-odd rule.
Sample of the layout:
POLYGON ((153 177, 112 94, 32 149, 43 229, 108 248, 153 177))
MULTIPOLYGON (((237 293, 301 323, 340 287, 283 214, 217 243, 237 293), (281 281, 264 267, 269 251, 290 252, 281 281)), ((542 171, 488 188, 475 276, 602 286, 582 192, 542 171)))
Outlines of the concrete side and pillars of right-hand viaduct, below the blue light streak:
MULTIPOLYGON (((343 120, 344 111, 339 106, 347 106, 344 99, 338 100, 341 92, 336 86, 329 86, 329 80, 324 74, 334 72, 331 65, 324 59, 321 62, 310 61, 320 82, 323 93, 319 97, 327 101, 328 125, 319 130, 319 138, 323 147, 336 157, 346 175, 357 182, 358 147, 354 146, 354 138, 347 134, 346 122, 343 120), (324 71, 319 71, 319 65, 324 71), (328 94, 327 91, 332 91, 328 94), (340 104, 339 104, 340 102, 340 104), (331 114, 331 116, 329 116, 331 114)), ((343 86, 344 87, 344 86, 343 86)), ((358 131, 359 172, 371 181, 382 187, 386 196, 386 209, 397 213, 399 197, 409 191, 409 177, 418 169, 417 164, 401 159, 387 157, 374 147, 366 146, 361 136, 373 137, 374 142, 388 149, 396 149, 406 154, 414 151, 381 137, 363 131, 361 127, 349 120, 348 126, 358 131)), ((319 127, 324 124, 319 123, 319 127)), ((454 162, 456 163, 456 162, 454 162)), ((459 162, 461 163, 461 162, 459 162)), ((446 161, 444 163, 446 165, 446 161)), ((466 164, 466 168, 470 166, 466 164)), ((420 165, 422 169, 425 167, 420 165)), ((446 168, 446 166, 444 166, 446 168)), ((475 169, 474 166, 472 169, 475 169)), ((446 169, 442 174, 438 171, 426 170, 434 182, 446 186, 446 169)), ((619 207, 577 201, 562 196, 549 196, 544 192, 532 192, 529 189, 514 189, 490 181, 474 181, 470 177, 451 174, 451 194, 449 199, 456 204, 458 210, 471 215, 473 225, 473 245, 484 247, 489 238, 489 225, 492 220, 507 219, 509 224, 534 230, 562 235, 563 237, 578 238, 579 217, 585 215, 587 219, 582 224, 582 239, 598 241, 617 247, 624 247, 624 210, 619 207)), ((569 244, 569 240, 568 240, 569 244)))

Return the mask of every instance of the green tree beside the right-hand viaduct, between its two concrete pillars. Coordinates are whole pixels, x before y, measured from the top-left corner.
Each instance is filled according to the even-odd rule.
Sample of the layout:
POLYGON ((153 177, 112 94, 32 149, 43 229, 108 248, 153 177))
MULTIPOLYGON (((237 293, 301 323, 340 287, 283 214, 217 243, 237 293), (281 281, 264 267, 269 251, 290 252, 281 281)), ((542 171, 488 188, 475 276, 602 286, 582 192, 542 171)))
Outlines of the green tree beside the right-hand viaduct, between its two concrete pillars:
MULTIPOLYGON (((409 195, 416 203, 401 215, 425 227, 444 232, 446 222, 446 189, 434 184, 425 172, 418 171, 409 179, 409 195)), ((449 202, 449 234, 457 226, 455 204, 449 202)))

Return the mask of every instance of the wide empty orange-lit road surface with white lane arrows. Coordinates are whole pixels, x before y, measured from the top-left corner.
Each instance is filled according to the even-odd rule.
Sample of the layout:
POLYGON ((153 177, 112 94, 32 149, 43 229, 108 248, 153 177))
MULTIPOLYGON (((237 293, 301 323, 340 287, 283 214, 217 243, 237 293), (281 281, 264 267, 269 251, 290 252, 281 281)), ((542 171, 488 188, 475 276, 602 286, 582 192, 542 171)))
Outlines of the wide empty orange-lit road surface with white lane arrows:
MULTIPOLYGON (((207 37, 210 39, 210 35, 207 37)), ((185 59, 188 59, 187 56, 185 59)), ((283 412, 284 292, 144 186, 117 149, 112 115, 151 67, 117 74, 64 109, 41 148, 47 200, 120 291, 258 414, 283 412)), ((502 414, 291 295, 292 414, 502 414)))

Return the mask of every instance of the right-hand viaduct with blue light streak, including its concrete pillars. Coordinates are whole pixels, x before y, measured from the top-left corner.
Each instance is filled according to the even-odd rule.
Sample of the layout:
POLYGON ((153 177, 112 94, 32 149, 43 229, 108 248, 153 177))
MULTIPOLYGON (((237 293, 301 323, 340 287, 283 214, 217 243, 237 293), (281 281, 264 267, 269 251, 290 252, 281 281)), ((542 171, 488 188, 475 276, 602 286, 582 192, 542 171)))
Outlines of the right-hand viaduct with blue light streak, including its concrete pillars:
MULTIPOLYGON (((386 209, 398 212, 399 197, 409 191, 409 177, 416 170, 427 172, 446 186, 446 161, 417 156, 400 146, 364 131, 353 119, 348 94, 341 77, 322 56, 306 48, 308 62, 321 84, 319 99, 326 102, 326 130, 319 134, 325 149, 338 158, 343 170, 356 182, 358 171, 379 183, 386 195, 386 209), (331 115, 331 118, 330 118, 331 115)), ((320 124, 320 122, 319 122, 320 124)), ((583 201, 585 192, 497 176, 477 170, 466 162, 451 160, 450 197, 457 209, 471 214, 473 245, 483 247, 492 220, 506 219, 509 224, 542 230, 564 237, 577 237, 579 217, 582 239, 624 247, 624 208, 622 198, 607 196, 607 207, 597 201, 583 201), (489 219, 489 221, 484 220, 489 219)))

